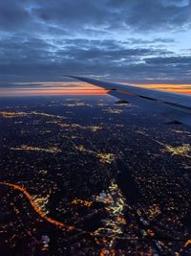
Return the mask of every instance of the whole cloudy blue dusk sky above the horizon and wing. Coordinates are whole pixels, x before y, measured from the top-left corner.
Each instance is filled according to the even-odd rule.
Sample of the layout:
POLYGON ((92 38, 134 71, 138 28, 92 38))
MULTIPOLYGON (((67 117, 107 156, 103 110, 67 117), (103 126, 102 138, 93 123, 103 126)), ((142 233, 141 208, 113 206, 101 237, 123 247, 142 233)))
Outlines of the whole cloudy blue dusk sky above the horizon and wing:
POLYGON ((66 75, 154 88, 174 84, 187 92, 191 1, 0 1, 1 94, 18 87, 99 90, 66 75))

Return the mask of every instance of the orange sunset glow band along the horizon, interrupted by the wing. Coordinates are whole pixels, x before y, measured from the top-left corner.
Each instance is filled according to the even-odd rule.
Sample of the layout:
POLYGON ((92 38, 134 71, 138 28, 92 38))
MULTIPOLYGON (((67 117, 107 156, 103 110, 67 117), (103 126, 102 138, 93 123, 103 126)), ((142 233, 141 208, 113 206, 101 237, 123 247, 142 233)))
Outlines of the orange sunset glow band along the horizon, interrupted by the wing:
MULTIPOLYGON (((1 88, 0 96, 1 97, 2 96, 3 97, 52 96, 52 95, 104 96, 107 94, 107 90, 86 82, 36 81, 36 82, 17 82, 15 84, 17 85, 17 87, 1 88), (24 85, 27 85, 27 86, 24 86, 24 85)), ((133 84, 133 85, 141 88, 150 88, 155 90, 166 90, 166 91, 182 93, 182 94, 191 94, 191 84, 145 83, 145 84, 133 84)))

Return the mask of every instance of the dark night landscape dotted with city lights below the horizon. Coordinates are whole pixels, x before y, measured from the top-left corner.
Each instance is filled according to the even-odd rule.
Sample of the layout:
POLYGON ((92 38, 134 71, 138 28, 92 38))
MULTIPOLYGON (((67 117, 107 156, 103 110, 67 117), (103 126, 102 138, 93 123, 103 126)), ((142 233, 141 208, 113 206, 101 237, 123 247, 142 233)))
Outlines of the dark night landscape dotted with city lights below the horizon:
POLYGON ((1 255, 191 253, 190 129, 115 102, 1 100, 1 255))

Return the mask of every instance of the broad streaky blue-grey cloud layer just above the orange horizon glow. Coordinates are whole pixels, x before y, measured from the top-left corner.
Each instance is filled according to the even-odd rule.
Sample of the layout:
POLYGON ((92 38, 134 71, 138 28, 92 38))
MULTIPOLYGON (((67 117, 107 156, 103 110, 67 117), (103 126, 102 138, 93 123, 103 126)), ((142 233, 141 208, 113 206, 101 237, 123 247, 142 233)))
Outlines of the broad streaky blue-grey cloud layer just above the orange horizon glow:
POLYGON ((128 81, 177 80, 181 74, 186 80, 190 71, 190 58, 173 57, 164 49, 134 48, 108 39, 66 39, 61 48, 54 43, 39 38, 22 41, 21 37, 2 41, 1 81, 62 81, 70 74, 128 81))

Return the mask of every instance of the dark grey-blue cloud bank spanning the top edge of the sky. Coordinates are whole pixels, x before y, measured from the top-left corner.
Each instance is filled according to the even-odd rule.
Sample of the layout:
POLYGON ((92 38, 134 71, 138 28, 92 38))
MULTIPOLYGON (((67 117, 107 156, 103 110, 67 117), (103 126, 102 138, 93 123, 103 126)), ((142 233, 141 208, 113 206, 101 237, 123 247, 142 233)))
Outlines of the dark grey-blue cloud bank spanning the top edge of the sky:
POLYGON ((0 3, 0 28, 27 30, 38 24, 58 31, 178 29, 190 23, 190 7, 189 0, 9 0, 0 3))

